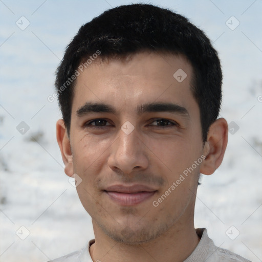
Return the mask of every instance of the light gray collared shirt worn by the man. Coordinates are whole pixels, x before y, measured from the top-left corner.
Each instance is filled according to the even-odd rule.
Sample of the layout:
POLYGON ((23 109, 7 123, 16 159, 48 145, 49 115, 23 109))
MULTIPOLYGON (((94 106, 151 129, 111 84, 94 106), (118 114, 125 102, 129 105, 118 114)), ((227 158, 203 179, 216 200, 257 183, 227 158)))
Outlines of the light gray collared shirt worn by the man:
MULTIPOLYGON (((251 262, 227 249, 216 247, 207 235, 205 228, 197 228, 200 242, 192 254, 184 262, 251 262)), ((89 242, 88 247, 69 255, 52 260, 53 262, 93 262, 90 256, 90 246, 95 243, 95 239, 89 242)), ((51 262, 51 261, 48 261, 51 262)))

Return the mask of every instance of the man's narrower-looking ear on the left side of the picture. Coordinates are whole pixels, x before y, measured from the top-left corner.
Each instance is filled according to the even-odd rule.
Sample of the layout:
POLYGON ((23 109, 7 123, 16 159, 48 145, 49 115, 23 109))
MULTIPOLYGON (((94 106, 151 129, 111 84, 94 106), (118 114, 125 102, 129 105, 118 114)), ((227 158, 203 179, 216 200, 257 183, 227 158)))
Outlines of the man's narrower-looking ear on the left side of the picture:
POLYGON ((59 119, 56 122, 56 139, 64 163, 64 172, 69 177, 72 177, 74 174, 73 156, 70 147, 70 139, 67 134, 67 128, 65 128, 64 121, 62 119, 59 119))

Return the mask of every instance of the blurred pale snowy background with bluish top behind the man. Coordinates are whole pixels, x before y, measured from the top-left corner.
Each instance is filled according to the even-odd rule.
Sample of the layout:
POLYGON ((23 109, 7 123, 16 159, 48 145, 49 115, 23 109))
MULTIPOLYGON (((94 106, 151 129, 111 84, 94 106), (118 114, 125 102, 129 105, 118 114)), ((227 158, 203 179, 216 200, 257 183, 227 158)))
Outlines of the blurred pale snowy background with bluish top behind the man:
MULTIPOLYGON (((79 27, 130 3, 0 1, 0 261, 44 262, 94 237, 91 219, 63 172, 55 138, 60 113, 47 97, 79 27)), ((262 1, 151 3, 203 29, 223 65, 221 116, 232 134, 222 166, 199 187, 195 227, 207 228, 217 246, 262 261, 262 1)))

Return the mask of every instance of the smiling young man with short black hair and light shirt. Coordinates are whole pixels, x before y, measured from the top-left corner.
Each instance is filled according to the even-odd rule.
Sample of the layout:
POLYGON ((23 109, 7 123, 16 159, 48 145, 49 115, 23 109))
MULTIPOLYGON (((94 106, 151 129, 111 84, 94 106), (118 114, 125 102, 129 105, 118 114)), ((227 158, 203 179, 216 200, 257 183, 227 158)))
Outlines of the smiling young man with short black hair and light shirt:
POLYGON ((194 228, 200 173, 223 160, 228 125, 210 40, 152 5, 82 26, 57 69, 57 141, 92 217, 89 246, 53 261, 248 261, 194 228))

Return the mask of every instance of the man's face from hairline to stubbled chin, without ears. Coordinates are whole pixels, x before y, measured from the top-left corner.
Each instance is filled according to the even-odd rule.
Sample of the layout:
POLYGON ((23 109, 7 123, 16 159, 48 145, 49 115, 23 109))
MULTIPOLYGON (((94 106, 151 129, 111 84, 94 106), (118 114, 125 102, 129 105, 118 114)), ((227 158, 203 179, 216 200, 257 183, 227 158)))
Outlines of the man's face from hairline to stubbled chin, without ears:
POLYGON ((67 173, 82 179, 95 234, 143 243, 192 219, 204 149, 191 78, 182 56, 152 53, 97 59, 77 77, 67 173))

